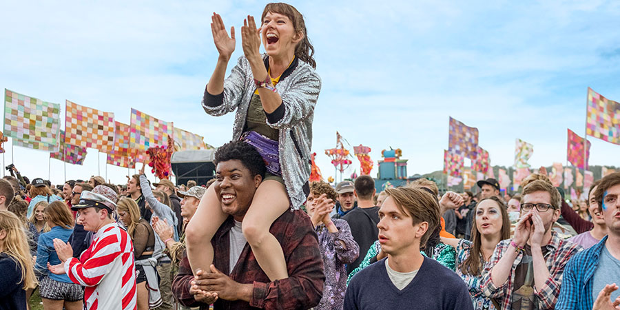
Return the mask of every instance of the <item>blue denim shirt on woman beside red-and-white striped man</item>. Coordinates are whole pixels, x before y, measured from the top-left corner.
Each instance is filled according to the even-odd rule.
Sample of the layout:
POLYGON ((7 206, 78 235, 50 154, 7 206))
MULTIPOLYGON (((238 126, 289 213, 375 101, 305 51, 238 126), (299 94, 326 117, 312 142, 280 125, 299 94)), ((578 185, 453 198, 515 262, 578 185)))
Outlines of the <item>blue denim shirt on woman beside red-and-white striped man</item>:
POLYGON ((64 242, 69 240, 73 229, 68 229, 61 226, 54 226, 52 229, 44 234, 39 236, 39 247, 37 249, 37 271, 50 276, 50 279, 56 280, 59 282, 65 283, 73 283, 69 276, 66 274, 54 274, 48 270, 48 262, 50 265, 58 265, 61 263, 58 255, 56 254, 56 249, 54 249, 54 239, 59 238, 64 242))

